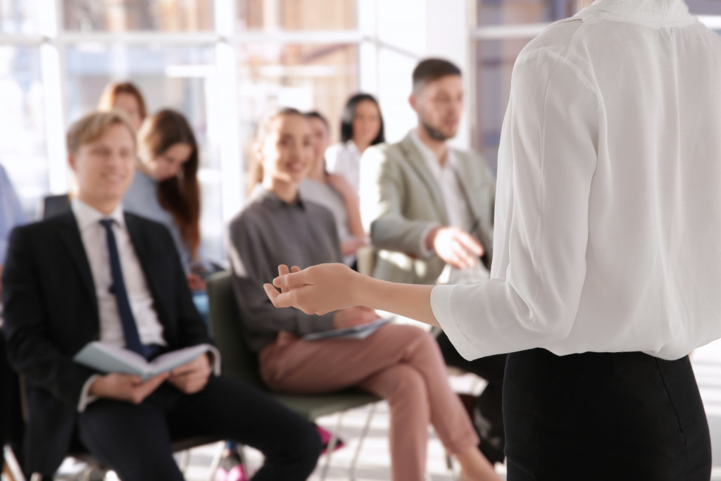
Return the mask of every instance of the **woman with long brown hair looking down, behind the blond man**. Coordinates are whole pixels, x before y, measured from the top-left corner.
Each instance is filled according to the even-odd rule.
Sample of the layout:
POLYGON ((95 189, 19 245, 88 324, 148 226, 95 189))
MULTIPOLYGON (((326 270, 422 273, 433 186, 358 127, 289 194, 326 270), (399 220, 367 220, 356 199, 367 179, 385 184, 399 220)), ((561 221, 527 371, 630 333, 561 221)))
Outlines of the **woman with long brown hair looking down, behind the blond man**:
POLYGON ((136 175, 123 208, 169 229, 188 286, 205 316, 205 281, 198 274, 206 270, 199 255, 199 164, 198 143, 185 117, 167 109, 151 115, 138 131, 136 175))

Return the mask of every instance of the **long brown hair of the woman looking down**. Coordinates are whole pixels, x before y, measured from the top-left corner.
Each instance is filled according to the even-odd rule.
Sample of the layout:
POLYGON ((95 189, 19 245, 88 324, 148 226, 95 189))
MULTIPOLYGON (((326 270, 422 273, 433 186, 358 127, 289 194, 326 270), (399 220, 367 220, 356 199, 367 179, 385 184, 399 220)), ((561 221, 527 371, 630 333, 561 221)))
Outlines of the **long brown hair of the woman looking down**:
POLYGON ((158 200, 172 213, 190 257, 195 258, 200 245, 200 185, 198 143, 193 129, 180 112, 164 109, 147 118, 138 131, 141 159, 156 159, 174 144, 187 144, 193 151, 175 177, 158 182, 158 200))

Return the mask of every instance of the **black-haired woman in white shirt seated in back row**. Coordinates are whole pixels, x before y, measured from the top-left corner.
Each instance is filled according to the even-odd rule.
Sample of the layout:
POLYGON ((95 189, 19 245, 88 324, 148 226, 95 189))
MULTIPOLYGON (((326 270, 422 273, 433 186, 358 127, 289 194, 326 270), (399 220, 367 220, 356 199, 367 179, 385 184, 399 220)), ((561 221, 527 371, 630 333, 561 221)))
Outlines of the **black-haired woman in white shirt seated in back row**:
POLYGON ((381 107, 371 94, 355 94, 348 99, 340 123, 340 144, 325 153, 328 172, 342 175, 358 195, 361 155, 370 146, 386 141, 381 107))

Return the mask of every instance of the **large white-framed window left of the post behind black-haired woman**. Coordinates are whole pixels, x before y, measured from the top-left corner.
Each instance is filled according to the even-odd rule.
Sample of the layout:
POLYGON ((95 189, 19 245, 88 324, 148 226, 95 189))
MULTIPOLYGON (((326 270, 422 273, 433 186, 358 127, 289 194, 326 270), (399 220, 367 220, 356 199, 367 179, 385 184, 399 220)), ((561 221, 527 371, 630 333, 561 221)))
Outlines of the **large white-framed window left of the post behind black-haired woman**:
POLYGON ((108 82, 131 80, 149 112, 172 108, 192 125, 202 247, 222 260, 262 113, 288 105, 340 123, 358 88, 356 8, 355 0, 0 0, 0 162, 37 219, 45 195, 71 188, 68 125, 94 110, 108 82))

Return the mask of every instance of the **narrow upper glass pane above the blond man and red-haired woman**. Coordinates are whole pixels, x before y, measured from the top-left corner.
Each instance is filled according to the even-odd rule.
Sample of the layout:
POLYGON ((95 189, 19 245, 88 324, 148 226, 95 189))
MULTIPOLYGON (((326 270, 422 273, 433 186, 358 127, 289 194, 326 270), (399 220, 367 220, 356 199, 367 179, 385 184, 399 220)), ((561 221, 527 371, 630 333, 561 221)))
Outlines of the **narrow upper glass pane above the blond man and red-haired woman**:
POLYGON ((66 30, 213 30, 213 0, 65 0, 66 30))

